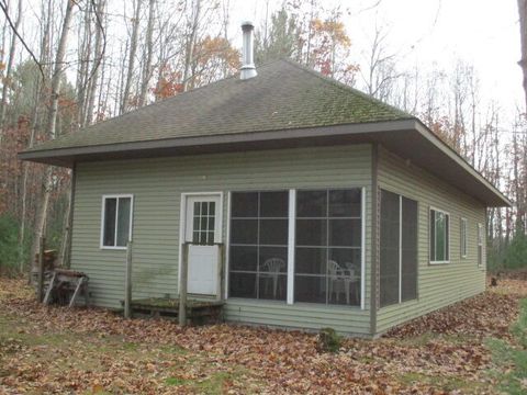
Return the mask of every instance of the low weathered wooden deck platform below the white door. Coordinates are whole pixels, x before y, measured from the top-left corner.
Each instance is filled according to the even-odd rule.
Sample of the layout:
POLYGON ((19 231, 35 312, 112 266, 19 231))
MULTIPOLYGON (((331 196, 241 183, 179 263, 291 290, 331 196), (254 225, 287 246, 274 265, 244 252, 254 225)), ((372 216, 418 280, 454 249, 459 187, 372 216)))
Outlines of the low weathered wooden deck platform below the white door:
MULTIPOLYGON (((213 324, 223 320, 223 301, 187 300, 187 317, 192 325, 213 324)), ((179 298, 152 297, 132 300, 132 314, 150 317, 178 318, 179 298)))

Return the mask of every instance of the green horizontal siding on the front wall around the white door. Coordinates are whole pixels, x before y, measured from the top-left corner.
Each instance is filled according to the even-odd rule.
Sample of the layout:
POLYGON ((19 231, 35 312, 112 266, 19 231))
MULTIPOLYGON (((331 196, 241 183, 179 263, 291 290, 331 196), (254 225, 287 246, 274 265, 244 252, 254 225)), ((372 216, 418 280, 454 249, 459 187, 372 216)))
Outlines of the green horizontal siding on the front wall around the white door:
MULTIPOLYGON (((369 270, 371 224, 371 146, 355 145, 80 162, 76 173, 71 267, 90 276, 93 302, 119 307, 124 294, 125 251, 102 250, 103 194, 134 195, 133 297, 176 296, 180 200, 183 192, 234 190, 366 188, 366 309, 321 305, 227 300, 226 318, 340 332, 369 331, 369 270)), ((223 237, 226 236, 226 229, 223 237)))

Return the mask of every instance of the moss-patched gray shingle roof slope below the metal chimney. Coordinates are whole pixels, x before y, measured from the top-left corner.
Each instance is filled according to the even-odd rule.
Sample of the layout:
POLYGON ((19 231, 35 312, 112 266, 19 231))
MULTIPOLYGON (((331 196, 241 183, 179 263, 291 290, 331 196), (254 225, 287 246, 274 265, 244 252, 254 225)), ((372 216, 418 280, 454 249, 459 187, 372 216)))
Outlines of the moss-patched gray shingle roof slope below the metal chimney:
POLYGON ((412 119, 291 60, 159 101, 32 150, 412 119))

